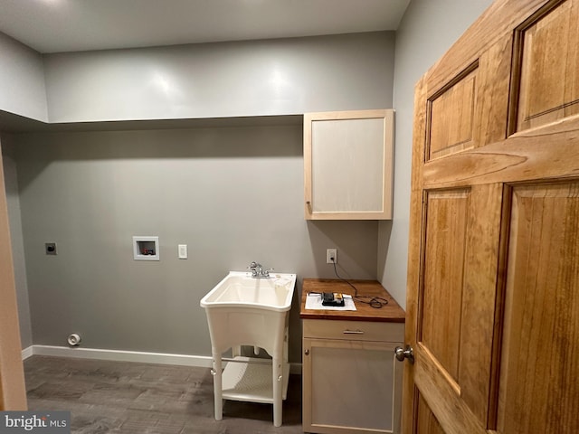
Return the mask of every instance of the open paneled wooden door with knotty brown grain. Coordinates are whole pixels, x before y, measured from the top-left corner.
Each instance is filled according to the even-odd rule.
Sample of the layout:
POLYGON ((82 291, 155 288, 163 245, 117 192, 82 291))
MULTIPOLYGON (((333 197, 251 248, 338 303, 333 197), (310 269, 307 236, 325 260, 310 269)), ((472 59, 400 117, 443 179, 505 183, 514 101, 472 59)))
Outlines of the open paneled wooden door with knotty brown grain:
POLYGON ((498 0, 416 85, 403 432, 579 432, 579 0, 498 0))

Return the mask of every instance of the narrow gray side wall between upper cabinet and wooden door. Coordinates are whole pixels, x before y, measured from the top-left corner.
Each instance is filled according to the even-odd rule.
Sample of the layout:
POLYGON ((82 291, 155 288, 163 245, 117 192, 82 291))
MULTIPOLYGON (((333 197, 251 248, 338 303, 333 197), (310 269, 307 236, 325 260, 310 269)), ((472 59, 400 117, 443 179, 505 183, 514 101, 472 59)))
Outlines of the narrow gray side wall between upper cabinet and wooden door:
POLYGON ((378 277, 406 306, 414 85, 491 0, 412 0, 396 32, 394 59, 394 218, 380 222, 378 277))

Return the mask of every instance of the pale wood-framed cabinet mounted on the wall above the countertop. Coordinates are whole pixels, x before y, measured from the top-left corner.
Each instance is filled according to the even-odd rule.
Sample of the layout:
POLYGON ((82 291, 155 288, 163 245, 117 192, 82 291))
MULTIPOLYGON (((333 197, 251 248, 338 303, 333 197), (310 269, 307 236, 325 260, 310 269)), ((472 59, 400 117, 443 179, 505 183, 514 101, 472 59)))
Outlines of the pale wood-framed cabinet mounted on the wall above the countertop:
POLYGON ((393 144, 392 109, 306 113, 306 219, 391 219, 393 144))

